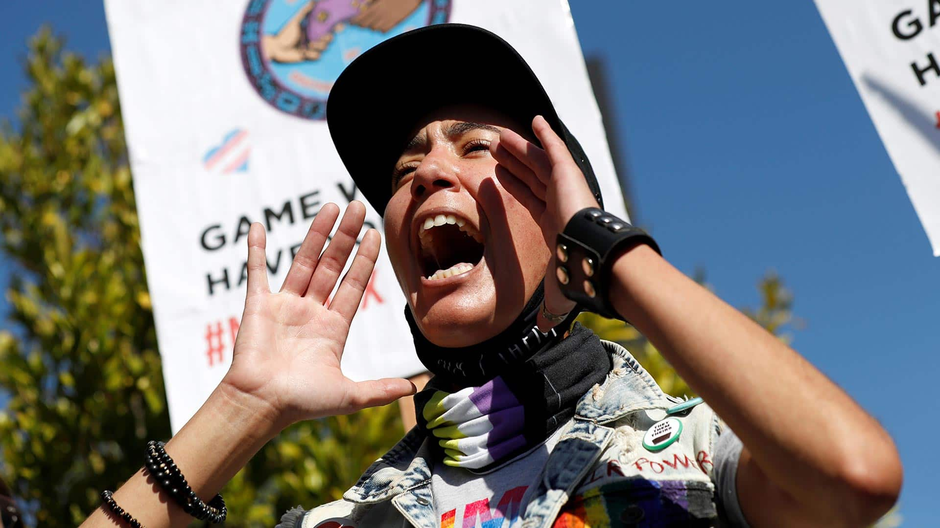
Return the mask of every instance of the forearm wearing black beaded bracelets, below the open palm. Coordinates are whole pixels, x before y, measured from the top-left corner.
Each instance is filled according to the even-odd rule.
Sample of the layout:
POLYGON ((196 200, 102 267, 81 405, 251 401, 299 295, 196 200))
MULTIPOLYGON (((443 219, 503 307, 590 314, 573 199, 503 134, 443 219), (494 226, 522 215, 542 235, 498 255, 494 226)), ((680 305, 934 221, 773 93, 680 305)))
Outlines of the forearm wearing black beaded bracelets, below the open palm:
MULTIPOLYGON (((180 432, 166 443, 166 453, 180 467, 190 488, 208 503, 280 431, 271 416, 273 412, 252 396, 244 396, 225 384, 219 385, 180 432)), ((141 443, 139 453, 130 454, 140 458, 141 466, 144 448, 141 443)), ((143 470, 133 474, 115 492, 114 499, 148 528, 185 526, 193 520, 143 470)), ((99 507, 82 526, 118 524, 107 512, 104 506, 99 507)))

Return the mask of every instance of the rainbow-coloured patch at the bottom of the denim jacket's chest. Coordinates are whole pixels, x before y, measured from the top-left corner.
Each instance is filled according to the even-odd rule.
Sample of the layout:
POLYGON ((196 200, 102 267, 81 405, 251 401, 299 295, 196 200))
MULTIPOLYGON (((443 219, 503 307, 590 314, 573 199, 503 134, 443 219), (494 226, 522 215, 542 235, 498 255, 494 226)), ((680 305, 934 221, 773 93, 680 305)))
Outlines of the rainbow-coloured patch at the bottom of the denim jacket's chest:
POLYGON ((712 489, 704 482, 638 478, 572 497, 553 528, 710 526, 717 515, 712 489))

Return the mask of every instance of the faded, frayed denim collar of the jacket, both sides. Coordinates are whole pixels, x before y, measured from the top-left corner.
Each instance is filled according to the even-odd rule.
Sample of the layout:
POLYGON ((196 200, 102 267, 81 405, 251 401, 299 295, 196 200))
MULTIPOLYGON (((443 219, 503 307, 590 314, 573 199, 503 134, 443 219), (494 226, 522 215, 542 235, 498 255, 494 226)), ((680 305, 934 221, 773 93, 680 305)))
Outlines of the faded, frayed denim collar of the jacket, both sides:
MULTIPOLYGON (((603 384, 594 385, 578 400, 572 426, 562 433, 545 463, 545 472, 569 477, 552 479, 551 474, 543 474, 542 486, 550 489, 541 489, 534 495, 544 499, 542 502, 552 502, 553 491, 562 491, 580 481, 610 440, 613 428, 606 424, 632 412, 667 409, 682 402, 680 398, 663 393, 627 349, 610 341, 601 342, 611 355, 613 368, 603 384), (575 442, 566 443, 566 440, 575 442), (579 452, 577 456, 572 450, 579 452), (569 467, 572 464, 579 467, 569 467)), ((395 447, 369 466, 359 481, 343 494, 343 499, 362 505, 374 504, 392 500, 405 491, 429 487, 432 455, 430 443, 425 440, 422 431, 412 428, 395 447)), ((550 505, 541 506, 530 504, 527 512, 544 511, 540 517, 548 518, 555 509, 550 505)))

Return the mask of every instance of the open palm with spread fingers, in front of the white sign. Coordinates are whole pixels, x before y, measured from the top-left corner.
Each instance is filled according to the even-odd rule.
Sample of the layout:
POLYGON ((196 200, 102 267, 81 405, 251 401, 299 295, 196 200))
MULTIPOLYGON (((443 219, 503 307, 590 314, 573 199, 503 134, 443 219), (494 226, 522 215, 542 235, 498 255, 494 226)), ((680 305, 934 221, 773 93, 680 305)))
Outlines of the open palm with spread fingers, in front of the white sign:
POLYGON ((327 306, 362 229, 366 208, 358 201, 350 204, 321 255, 338 215, 335 204, 323 206, 277 293, 268 287, 264 228, 255 224, 248 233, 248 291, 232 365, 222 383, 257 397, 281 427, 384 405, 415 392, 409 380, 355 382, 339 369, 381 237, 375 229, 368 230, 327 306))

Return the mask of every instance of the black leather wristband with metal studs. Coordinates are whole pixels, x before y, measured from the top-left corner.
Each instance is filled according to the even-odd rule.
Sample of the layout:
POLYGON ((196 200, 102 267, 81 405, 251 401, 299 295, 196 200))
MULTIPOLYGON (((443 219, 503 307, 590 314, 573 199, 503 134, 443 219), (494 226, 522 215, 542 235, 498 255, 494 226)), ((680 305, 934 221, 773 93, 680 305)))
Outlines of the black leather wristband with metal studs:
POLYGON ((561 292, 582 307, 605 318, 620 318, 610 303, 610 257, 627 246, 659 245, 643 229, 597 208, 579 210, 558 233, 556 280, 561 292))

